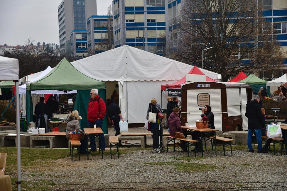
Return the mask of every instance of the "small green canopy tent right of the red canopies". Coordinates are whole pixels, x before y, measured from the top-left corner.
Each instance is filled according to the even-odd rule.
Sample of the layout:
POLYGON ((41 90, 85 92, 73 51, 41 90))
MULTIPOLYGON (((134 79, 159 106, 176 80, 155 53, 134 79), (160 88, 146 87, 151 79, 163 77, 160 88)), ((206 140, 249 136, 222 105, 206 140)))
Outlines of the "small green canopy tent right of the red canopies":
MULTIPOLYGON (((255 76, 255 74, 250 74, 249 76, 247 76, 247 78, 240 80, 238 82, 249 84, 252 90, 258 93, 258 91, 260 90, 260 87, 266 88, 267 81, 258 78, 257 76, 255 76)), ((270 87, 267 86, 267 96, 270 96, 269 92, 270 92, 270 87)))

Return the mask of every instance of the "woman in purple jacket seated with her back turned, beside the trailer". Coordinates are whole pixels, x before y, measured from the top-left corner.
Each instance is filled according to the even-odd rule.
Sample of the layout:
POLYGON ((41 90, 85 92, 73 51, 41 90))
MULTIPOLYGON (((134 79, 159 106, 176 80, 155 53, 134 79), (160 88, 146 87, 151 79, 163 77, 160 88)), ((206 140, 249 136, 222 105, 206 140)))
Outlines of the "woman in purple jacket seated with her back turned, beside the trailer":
MULTIPOLYGON (((175 132, 182 133, 181 127, 180 127, 180 118, 179 118, 179 109, 173 108, 173 112, 170 114, 167 122, 167 127, 169 128, 169 134, 171 137, 174 136, 175 132)), ((179 146, 184 152, 187 152, 186 149, 186 143, 185 141, 180 141, 179 146)))

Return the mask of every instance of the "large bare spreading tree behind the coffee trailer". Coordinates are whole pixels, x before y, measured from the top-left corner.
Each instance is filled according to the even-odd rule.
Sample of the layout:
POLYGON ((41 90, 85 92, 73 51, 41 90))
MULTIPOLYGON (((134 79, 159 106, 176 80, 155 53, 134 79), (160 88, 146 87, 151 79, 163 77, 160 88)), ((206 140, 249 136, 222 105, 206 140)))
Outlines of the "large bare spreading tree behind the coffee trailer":
POLYGON ((280 69, 280 45, 257 2, 185 1, 177 18, 178 27, 166 40, 168 57, 201 66, 202 50, 213 47, 204 52, 204 68, 221 74, 223 81, 240 71, 280 69))

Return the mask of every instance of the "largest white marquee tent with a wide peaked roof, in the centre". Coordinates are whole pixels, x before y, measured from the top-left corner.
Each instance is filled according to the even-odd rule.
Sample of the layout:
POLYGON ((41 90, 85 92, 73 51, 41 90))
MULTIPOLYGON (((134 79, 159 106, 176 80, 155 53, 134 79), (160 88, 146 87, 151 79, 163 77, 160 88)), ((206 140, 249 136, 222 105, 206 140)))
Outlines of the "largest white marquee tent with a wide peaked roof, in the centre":
MULTIPOLYGON (((91 78, 118 82, 119 105, 129 123, 144 123, 151 98, 161 99, 161 85, 178 81, 193 68, 128 45, 71 64, 91 78)), ((221 80, 220 74, 200 70, 216 81, 221 80)))

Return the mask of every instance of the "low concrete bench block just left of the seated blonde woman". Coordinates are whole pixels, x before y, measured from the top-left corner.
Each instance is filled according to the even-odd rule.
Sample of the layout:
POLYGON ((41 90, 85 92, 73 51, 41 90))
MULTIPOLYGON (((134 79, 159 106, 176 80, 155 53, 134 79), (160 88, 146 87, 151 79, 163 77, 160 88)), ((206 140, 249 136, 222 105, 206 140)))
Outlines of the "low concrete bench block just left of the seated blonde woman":
POLYGON ((30 147, 49 146, 50 148, 68 148, 66 136, 33 136, 30 137, 30 147))

